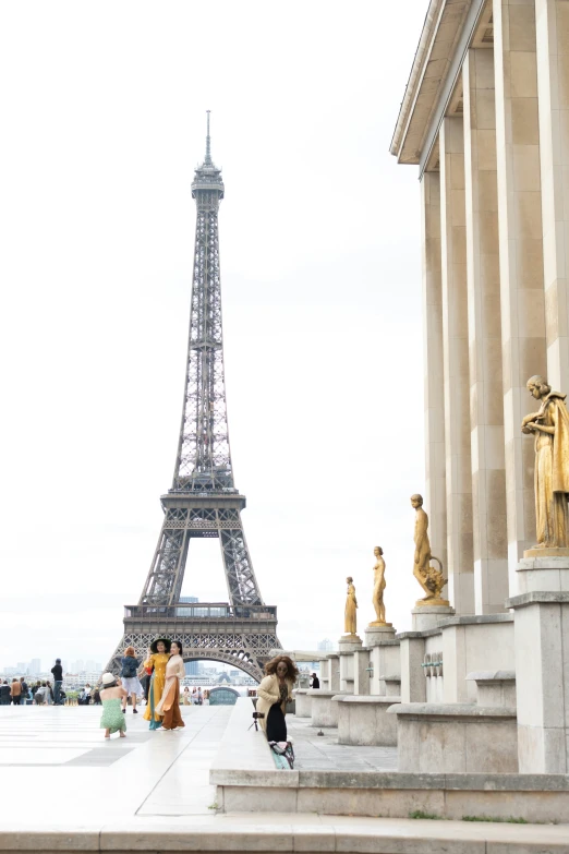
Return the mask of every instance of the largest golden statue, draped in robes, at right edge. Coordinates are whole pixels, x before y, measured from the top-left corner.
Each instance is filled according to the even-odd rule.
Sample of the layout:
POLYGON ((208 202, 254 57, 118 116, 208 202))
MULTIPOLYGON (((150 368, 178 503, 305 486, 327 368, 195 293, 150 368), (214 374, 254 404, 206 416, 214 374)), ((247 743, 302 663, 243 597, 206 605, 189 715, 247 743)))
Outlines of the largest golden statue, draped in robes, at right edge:
POLYGON ((522 421, 522 433, 535 434, 535 549, 569 548, 569 412, 567 395, 552 392, 543 376, 528 380, 541 406, 522 421))

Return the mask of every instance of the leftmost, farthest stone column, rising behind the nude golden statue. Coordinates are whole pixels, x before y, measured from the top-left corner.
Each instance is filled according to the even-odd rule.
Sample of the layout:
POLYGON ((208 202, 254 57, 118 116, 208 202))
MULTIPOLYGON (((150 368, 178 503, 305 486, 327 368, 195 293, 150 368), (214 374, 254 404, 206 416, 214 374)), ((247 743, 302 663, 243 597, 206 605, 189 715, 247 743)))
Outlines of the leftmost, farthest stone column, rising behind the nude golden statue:
POLYGON ((445 389, 443 377, 443 291, 440 279, 440 173, 421 181, 423 244, 423 365, 425 372, 425 508, 434 554, 447 570, 445 485, 445 389))

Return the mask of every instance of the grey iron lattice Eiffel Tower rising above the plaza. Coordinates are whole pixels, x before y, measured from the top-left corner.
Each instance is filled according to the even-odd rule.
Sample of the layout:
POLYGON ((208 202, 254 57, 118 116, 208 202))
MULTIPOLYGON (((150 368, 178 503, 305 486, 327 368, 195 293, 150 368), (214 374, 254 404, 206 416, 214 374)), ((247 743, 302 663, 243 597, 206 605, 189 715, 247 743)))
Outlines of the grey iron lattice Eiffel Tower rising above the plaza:
POLYGON ((195 170, 192 197, 197 218, 185 395, 172 488, 160 501, 165 513, 150 569, 136 605, 124 610, 124 634, 107 670, 117 672, 125 647, 145 657, 157 636, 179 639, 184 660, 232 664, 263 676, 277 638, 277 609, 265 605, 253 572, 241 510, 245 496, 233 482, 227 423, 221 327, 218 212, 221 169, 211 160, 209 110, 206 153, 195 170), (180 601, 190 542, 217 537, 229 603, 180 601))

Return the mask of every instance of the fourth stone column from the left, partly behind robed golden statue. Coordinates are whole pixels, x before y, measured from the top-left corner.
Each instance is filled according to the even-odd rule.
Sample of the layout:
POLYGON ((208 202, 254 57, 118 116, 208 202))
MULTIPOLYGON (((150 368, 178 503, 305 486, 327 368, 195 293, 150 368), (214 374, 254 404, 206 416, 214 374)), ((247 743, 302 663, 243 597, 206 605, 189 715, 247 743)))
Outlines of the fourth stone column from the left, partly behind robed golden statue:
POLYGON ((494 0, 496 159, 510 596, 535 541, 532 411, 525 383, 546 373, 534 0, 494 0))

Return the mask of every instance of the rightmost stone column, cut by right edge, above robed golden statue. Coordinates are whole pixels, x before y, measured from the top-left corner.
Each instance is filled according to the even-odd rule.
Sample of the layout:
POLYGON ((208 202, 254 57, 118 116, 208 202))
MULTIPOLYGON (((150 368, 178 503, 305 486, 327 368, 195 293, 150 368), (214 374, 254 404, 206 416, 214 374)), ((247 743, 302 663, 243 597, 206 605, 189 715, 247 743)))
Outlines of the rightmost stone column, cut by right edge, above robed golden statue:
POLYGON ((535 0, 547 378, 569 388, 569 3, 535 0))

